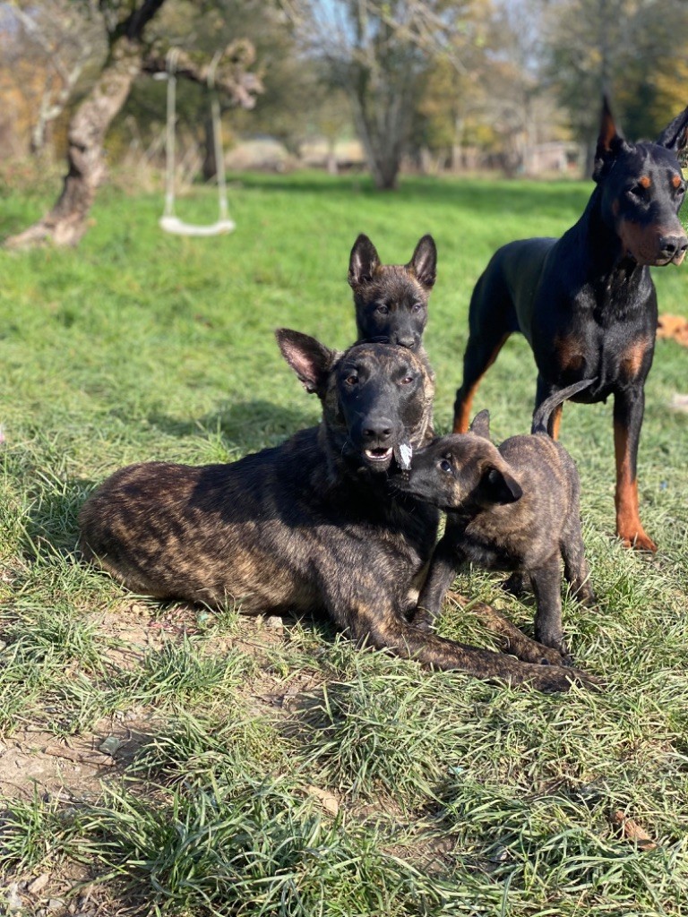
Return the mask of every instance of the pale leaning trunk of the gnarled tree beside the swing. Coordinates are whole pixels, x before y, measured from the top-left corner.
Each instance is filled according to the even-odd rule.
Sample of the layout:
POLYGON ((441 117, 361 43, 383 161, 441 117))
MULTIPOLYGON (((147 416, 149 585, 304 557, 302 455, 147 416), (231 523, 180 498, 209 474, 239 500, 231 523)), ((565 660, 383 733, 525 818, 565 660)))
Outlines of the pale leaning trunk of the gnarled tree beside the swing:
POLYGON ((67 152, 69 171, 57 204, 38 223, 6 239, 7 248, 27 248, 47 241, 68 246, 80 241, 98 184, 105 174, 103 144, 107 128, 127 101, 141 64, 139 42, 118 39, 97 83, 72 116, 67 152))

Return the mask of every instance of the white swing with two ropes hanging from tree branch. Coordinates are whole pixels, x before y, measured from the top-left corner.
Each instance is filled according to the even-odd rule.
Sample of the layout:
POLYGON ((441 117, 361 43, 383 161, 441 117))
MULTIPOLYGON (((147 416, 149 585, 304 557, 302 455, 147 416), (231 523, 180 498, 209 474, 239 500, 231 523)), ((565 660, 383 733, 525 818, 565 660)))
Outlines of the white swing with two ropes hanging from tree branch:
POLYGON ((222 121, 220 104, 215 88, 215 72, 223 52, 217 51, 208 68, 207 85, 210 91, 210 113, 213 119, 213 146, 217 169, 217 220, 215 223, 194 225, 184 223, 174 213, 174 131, 176 127, 177 59, 179 52, 171 48, 167 54, 167 135, 165 169, 165 209, 159 225, 165 232, 175 236, 220 236, 231 232, 236 224, 227 212, 227 177, 225 175, 225 154, 222 149, 222 121))

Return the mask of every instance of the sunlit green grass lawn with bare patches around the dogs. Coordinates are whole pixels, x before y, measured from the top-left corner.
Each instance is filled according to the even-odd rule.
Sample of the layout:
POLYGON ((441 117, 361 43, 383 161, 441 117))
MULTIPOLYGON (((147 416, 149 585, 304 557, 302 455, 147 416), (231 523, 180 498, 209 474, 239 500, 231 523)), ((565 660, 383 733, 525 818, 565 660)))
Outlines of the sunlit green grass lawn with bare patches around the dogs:
MULTIPOLYGON (((592 182, 236 176, 234 234, 157 226, 105 188, 77 250, 0 250, 0 911, 301 915, 688 914, 688 350, 660 341, 639 457, 656 557, 614 535, 611 404, 567 405, 599 607, 565 597, 597 693, 546 696, 354 648, 322 621, 132 596, 85 568, 76 514, 134 461, 230 461, 316 422, 273 330, 355 337, 354 238, 383 261, 431 232, 427 351, 449 430, 472 285, 500 244, 560 235, 592 182), (38 881, 37 881, 38 880, 38 881)), ((2 192, 0 236, 50 204, 2 192)), ((212 192, 180 201, 214 219, 212 192)), ((686 214, 688 216, 688 214, 686 214)), ((688 266, 655 271, 688 315, 688 266)), ((529 427, 510 339, 474 404, 529 427)), ((456 588, 532 633, 500 576, 456 588)), ((448 607, 446 635, 493 646, 448 607)))

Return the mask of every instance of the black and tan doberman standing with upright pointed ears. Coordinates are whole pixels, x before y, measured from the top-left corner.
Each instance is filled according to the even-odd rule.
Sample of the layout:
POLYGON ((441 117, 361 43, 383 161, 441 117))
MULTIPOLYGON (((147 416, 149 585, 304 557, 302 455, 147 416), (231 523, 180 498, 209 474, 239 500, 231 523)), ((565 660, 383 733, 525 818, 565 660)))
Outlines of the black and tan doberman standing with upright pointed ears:
MULTIPOLYGON (((680 264, 688 238, 679 222, 685 181, 676 154, 688 108, 656 143, 629 143, 606 101, 594 192, 560 239, 529 238, 499 249, 473 290, 454 432, 468 429, 472 397, 515 331, 538 367, 536 407, 572 382, 595 380, 573 401, 614 396, 616 532, 627 547, 654 551, 638 514, 638 440, 654 352, 657 295, 649 266, 680 264)), ((560 410, 549 432, 556 438, 560 410)))

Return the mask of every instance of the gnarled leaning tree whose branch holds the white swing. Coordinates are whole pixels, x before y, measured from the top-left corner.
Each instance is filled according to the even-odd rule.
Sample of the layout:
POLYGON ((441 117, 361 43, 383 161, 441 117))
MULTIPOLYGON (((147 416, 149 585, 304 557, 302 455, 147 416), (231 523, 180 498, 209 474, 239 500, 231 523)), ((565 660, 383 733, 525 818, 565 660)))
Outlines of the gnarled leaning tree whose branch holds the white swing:
MULTIPOLYGON (((166 47, 150 34, 150 23, 167 0, 73 0, 84 15, 98 17, 105 33, 105 61, 94 84, 72 114, 68 133, 68 171, 62 192, 50 213, 34 226, 6 240, 10 248, 52 241, 75 245, 83 237, 86 217, 105 173, 103 145, 113 119, 125 104, 139 73, 164 72, 166 47)), ((172 0, 172 3, 174 0, 172 0)), ((170 3, 170 6, 172 6, 170 3)), ((216 4, 192 4, 199 15, 213 13, 216 4)), ((261 83, 250 68, 254 62, 249 42, 232 42, 216 71, 216 88, 236 105, 253 105, 261 83)), ((210 60, 194 51, 180 50, 177 73, 206 83, 210 60)))

